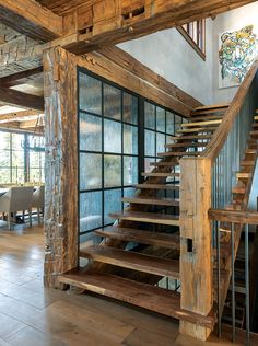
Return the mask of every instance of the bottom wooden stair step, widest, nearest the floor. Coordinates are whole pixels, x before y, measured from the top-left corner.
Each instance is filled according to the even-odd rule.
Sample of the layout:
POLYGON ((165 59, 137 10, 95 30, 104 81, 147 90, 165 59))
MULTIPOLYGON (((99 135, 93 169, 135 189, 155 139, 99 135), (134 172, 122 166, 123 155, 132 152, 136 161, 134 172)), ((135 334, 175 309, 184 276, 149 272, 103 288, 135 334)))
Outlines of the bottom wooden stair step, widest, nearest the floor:
POLYGON ((212 328, 215 323, 212 315, 183 310, 179 293, 156 286, 110 274, 84 273, 82 269, 61 275, 59 281, 206 327, 212 328))

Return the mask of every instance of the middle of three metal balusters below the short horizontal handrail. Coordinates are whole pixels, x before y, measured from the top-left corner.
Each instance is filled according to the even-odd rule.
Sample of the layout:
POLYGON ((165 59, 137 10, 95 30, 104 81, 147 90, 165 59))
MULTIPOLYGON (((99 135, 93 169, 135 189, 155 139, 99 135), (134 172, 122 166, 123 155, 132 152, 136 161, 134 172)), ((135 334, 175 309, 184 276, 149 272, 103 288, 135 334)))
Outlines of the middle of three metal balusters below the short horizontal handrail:
POLYGON ((235 310, 235 226, 231 224, 231 265, 232 265, 232 342, 236 338, 236 310, 235 310))

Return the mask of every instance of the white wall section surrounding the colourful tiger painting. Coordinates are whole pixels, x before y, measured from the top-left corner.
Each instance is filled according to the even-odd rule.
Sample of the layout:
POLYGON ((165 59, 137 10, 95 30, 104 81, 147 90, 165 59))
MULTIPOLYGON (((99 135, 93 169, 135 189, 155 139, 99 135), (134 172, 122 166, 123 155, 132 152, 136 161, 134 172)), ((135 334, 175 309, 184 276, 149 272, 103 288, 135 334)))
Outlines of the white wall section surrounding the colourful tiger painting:
POLYGON ((258 35, 258 2, 254 2, 239 9, 222 13, 213 23, 213 93, 214 103, 230 102, 237 86, 219 89, 219 36, 225 31, 235 31, 246 25, 255 25, 254 32, 258 35))

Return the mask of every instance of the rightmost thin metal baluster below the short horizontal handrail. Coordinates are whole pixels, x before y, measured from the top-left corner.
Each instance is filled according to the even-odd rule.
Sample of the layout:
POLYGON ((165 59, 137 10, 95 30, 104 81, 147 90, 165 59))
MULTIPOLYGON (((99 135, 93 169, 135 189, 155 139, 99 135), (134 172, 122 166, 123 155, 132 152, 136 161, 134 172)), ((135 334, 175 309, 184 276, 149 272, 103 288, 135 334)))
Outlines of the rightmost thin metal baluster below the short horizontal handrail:
POLYGON ((245 226, 245 284, 246 284, 246 345, 250 345, 249 305, 249 224, 245 226))

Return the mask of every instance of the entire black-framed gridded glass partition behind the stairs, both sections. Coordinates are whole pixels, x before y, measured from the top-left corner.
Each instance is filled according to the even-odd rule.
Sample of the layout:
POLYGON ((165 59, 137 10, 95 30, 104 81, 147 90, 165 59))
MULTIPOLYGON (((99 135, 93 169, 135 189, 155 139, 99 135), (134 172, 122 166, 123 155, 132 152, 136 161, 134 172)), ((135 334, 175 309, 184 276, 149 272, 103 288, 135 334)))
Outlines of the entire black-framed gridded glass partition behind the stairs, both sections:
MULTIPOLYGON (((183 117, 85 69, 79 83, 79 218, 80 242, 114 223, 108 214, 124 208, 121 197, 151 161, 165 151, 183 117)), ((174 181, 174 178, 172 178, 174 181)), ((173 196, 175 193, 173 193, 173 196)))

